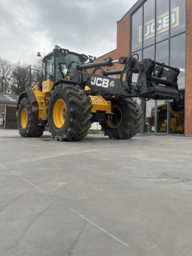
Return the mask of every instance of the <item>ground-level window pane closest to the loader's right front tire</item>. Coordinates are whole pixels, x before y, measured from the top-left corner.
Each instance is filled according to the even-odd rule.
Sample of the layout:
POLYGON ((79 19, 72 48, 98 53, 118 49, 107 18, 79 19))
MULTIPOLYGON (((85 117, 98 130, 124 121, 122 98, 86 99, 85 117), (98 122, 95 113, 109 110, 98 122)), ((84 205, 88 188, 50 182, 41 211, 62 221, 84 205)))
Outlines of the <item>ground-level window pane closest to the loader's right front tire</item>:
POLYGON ((155 132, 155 100, 146 101, 144 132, 155 132))

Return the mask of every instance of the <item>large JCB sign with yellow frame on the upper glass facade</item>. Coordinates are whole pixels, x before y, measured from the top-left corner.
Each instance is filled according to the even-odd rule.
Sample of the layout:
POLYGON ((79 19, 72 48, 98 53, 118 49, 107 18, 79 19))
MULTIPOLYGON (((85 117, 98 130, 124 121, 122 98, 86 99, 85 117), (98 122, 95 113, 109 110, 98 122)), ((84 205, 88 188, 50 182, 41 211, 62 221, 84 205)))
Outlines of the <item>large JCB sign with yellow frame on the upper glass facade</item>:
MULTIPOLYGON (((171 26, 175 28, 179 26, 179 6, 172 9, 171 26)), ((169 30, 169 12, 165 12, 157 17, 156 31, 157 34, 162 34, 169 30)), ((155 19, 149 20, 144 25, 144 40, 155 36, 155 19)), ((139 26, 139 43, 142 42, 142 25, 139 26)))

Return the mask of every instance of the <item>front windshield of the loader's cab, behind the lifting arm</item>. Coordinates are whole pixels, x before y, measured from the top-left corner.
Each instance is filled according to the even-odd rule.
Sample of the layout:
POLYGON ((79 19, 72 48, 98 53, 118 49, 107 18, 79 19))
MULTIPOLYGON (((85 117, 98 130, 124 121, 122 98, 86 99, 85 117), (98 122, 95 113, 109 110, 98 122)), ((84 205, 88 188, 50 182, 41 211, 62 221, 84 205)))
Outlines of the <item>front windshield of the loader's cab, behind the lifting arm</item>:
POLYGON ((56 58, 56 76, 57 79, 62 79, 62 75, 60 73, 60 69, 59 69, 59 63, 65 63, 66 66, 65 68, 61 68, 63 76, 66 76, 67 70, 68 70, 68 65, 71 61, 75 61, 72 65, 71 65, 71 69, 70 69, 70 73, 69 76, 72 78, 74 76, 74 70, 75 67, 77 65, 77 63, 83 62, 83 58, 81 56, 78 55, 74 55, 71 53, 68 53, 67 55, 60 55, 59 57, 56 58))

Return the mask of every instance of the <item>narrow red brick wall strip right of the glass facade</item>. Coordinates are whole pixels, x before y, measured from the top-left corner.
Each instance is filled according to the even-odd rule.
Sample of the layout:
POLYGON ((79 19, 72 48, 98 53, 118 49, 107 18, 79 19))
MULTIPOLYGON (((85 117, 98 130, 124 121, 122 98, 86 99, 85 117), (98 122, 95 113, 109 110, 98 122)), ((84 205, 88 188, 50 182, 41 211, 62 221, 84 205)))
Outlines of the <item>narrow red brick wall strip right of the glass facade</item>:
POLYGON ((192 136, 192 1, 186 0, 185 135, 192 136))

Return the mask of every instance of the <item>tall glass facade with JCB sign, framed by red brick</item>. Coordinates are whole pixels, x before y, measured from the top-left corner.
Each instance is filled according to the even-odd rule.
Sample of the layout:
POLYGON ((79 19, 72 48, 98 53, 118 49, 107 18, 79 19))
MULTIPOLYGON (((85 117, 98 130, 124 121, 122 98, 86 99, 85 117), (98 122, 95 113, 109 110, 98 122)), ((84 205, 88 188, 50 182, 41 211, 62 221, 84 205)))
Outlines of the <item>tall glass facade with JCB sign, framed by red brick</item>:
POLYGON ((186 0, 147 0, 132 14, 132 54, 180 68, 181 96, 141 101, 141 133, 184 134, 186 0))

